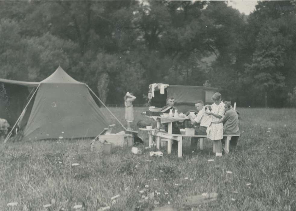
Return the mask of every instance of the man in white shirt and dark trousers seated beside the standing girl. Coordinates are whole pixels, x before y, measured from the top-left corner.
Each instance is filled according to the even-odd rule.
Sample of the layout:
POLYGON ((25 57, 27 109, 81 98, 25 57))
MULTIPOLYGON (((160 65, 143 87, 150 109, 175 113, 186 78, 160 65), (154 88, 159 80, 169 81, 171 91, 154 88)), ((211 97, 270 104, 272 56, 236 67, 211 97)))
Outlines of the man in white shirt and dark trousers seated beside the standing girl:
MULTIPOLYGON (((193 118, 191 115, 188 115, 188 118, 191 121, 191 124, 197 124, 200 123, 199 126, 196 128, 194 127, 195 130, 195 135, 206 135, 206 128, 208 128, 209 124, 211 123, 211 116, 206 114, 206 108, 203 107, 203 101, 198 100, 195 102, 196 109, 198 111, 196 118, 193 118)), ((194 151, 196 150, 197 147, 197 137, 192 137, 191 138, 191 149, 194 151)))

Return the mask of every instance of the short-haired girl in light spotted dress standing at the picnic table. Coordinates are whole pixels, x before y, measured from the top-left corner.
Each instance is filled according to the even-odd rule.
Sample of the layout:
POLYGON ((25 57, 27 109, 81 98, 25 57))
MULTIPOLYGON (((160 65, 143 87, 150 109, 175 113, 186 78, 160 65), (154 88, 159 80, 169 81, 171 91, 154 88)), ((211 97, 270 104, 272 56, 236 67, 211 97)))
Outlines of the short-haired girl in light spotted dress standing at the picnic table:
POLYGON ((214 149, 216 149, 216 157, 222 156, 222 143, 223 139, 223 124, 222 119, 224 116, 224 103, 221 101, 221 94, 216 92, 212 96, 214 103, 211 105, 211 111, 208 110, 207 114, 211 115, 212 121, 207 128, 207 138, 214 141, 214 149))

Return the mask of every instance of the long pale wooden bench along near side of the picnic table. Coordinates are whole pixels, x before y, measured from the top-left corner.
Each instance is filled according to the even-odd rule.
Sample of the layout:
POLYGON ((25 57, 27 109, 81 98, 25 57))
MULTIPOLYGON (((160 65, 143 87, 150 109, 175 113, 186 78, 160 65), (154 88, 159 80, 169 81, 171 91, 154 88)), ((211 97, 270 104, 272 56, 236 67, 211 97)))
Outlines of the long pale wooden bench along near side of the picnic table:
MULTIPOLYGON (((183 144, 183 137, 197 137, 200 140, 200 150, 203 150, 203 139, 206 138, 206 135, 184 135, 184 134, 167 134, 163 132, 158 132, 156 136, 163 138, 162 141, 165 140, 177 140, 178 141, 178 157, 182 157, 182 144, 183 144)), ((223 135, 227 137, 225 142, 225 153, 229 153, 229 142, 231 137, 233 136, 240 136, 238 134, 227 134, 223 135)), ((156 139, 156 148, 159 149, 160 147, 160 139, 156 139)), ((237 147, 237 145, 236 145, 237 147)), ((172 141, 168 141, 168 154, 172 152, 172 141)), ((213 146, 213 152, 216 152, 215 147, 213 146)))

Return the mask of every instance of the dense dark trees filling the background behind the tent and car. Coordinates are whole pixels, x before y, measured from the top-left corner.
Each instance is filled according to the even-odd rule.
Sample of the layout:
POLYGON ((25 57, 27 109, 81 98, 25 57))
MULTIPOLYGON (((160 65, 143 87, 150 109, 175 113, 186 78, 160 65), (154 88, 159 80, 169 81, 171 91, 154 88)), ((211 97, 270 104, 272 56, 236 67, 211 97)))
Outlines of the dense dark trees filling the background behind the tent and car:
POLYGON ((108 104, 148 85, 211 86, 240 106, 296 105, 295 1, 1 1, 0 77, 61 65, 108 104))

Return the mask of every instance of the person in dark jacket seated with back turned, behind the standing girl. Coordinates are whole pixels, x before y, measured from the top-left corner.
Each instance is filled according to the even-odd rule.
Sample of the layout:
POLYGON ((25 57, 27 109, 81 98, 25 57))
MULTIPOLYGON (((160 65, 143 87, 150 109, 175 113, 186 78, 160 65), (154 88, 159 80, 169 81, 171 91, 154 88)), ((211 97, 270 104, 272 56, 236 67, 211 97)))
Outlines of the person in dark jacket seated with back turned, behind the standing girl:
MULTIPOLYGON (((224 102, 224 107, 225 107, 225 114, 222 119, 223 123, 223 134, 240 134, 239 128, 238 128, 238 114, 235 110, 233 110, 231 106, 231 102, 225 101, 224 102)), ((222 140, 222 144, 225 143, 227 137, 224 137, 222 140)), ((230 140, 230 145, 231 146, 236 146, 238 143, 238 136, 233 136, 231 137, 230 140)))

